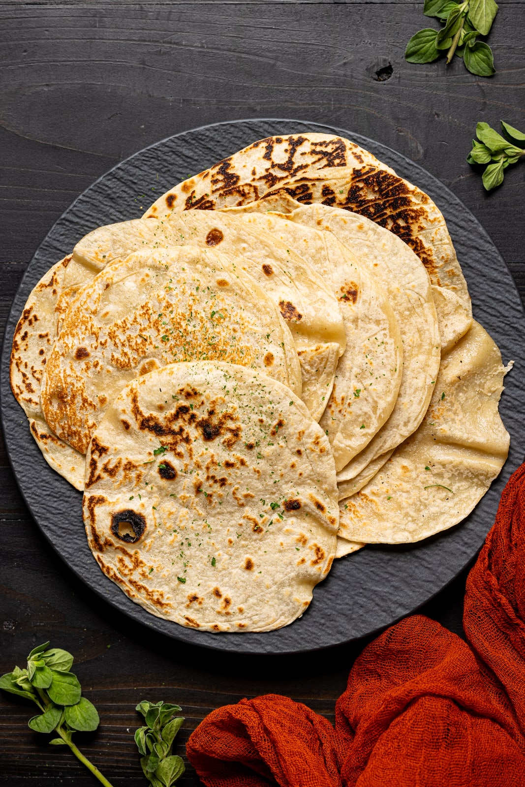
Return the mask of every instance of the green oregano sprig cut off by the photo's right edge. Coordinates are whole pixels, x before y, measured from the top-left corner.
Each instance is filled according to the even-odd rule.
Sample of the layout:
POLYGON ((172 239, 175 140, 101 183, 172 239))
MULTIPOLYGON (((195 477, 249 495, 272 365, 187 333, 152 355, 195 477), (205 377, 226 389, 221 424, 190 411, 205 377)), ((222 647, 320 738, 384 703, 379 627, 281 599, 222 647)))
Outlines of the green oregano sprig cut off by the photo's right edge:
POLYGON ((501 136, 488 123, 479 123, 475 127, 478 139, 472 140, 472 150, 468 154, 469 164, 487 164, 483 172, 483 186, 487 191, 501 186, 503 172, 508 164, 516 164, 525 156, 525 134, 517 128, 501 122, 501 136))

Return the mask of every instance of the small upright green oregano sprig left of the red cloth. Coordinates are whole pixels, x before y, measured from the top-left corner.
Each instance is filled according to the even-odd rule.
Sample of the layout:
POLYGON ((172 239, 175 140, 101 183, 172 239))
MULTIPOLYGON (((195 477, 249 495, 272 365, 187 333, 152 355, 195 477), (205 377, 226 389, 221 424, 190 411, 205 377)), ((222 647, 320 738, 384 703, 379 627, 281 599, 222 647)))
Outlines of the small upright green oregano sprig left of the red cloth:
POLYGON ((146 726, 135 731, 144 775, 153 787, 171 787, 184 773, 183 759, 172 754, 173 741, 184 722, 183 716, 176 716, 182 708, 142 700, 136 709, 146 719, 146 726))

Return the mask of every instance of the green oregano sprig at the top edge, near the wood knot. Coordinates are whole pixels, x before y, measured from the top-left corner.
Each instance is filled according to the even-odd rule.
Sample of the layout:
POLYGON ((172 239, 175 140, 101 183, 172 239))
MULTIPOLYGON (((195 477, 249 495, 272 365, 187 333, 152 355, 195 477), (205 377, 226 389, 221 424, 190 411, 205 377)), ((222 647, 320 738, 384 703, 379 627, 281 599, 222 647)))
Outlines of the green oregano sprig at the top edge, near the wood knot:
POLYGON ((425 0, 423 13, 444 22, 441 30, 424 28, 412 35, 405 51, 409 63, 431 63, 446 53, 447 65, 454 54, 463 57, 465 66, 477 76, 494 74, 494 56, 490 46, 478 41, 488 35, 497 14, 494 0, 425 0))

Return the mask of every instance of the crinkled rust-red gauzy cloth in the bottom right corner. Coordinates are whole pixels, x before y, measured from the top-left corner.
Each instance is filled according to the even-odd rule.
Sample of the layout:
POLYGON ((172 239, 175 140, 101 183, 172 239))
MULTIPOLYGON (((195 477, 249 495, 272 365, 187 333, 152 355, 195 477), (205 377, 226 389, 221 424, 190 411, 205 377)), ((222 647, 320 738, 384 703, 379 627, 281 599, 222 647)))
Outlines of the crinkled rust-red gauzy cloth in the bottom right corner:
POLYGON ((208 787, 525 787, 525 464, 468 576, 464 630, 423 615, 386 630, 335 728, 275 694, 218 708, 190 762, 208 787))

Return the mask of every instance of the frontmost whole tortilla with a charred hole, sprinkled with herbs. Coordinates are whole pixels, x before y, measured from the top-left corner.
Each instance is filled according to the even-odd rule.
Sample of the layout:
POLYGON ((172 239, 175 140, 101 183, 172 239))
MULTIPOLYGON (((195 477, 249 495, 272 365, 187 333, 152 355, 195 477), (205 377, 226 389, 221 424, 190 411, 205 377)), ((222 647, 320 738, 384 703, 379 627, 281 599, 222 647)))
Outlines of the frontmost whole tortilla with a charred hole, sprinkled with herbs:
POLYGON ((153 615, 208 631, 287 626, 335 555, 330 445, 261 371, 172 364, 106 411, 83 515, 102 571, 153 615))

